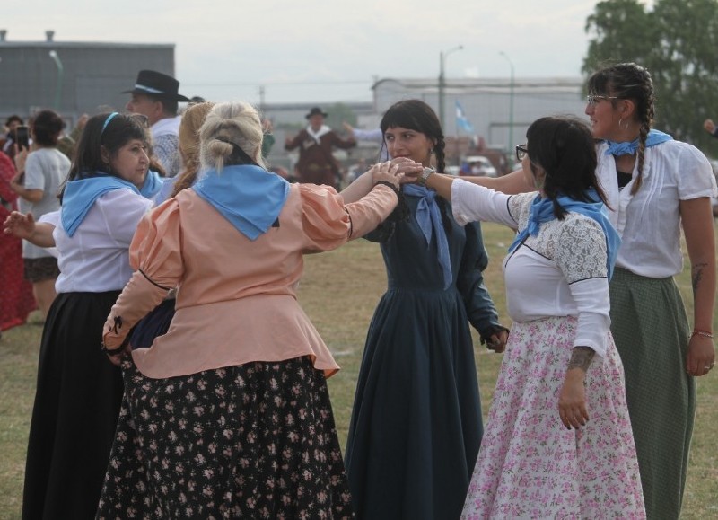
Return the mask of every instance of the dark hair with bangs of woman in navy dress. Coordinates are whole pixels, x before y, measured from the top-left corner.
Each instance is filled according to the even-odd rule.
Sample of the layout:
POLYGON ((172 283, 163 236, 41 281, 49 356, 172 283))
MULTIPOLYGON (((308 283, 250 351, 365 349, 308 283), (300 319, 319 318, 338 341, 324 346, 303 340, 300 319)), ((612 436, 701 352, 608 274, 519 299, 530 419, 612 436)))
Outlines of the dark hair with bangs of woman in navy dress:
MULTIPOLYGON (((421 100, 398 101, 390 106, 381 118, 381 134, 388 128, 402 127, 421 132, 435 145, 433 154, 436 156, 436 170, 443 172, 446 168, 442 124, 433 109, 421 100)), ((386 144, 382 144, 386 146, 386 144)))

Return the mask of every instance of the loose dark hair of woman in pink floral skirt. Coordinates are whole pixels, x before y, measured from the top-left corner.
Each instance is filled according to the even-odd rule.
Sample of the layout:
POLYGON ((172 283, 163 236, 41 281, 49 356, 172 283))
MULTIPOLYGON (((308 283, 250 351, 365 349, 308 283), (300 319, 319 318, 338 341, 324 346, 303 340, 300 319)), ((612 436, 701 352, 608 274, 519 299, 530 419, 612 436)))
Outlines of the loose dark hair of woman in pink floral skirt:
MULTIPOLYGON (((596 177, 596 145, 591 128, 574 117, 547 117, 531 123, 526 131, 531 172, 546 172, 543 190, 554 203, 554 215, 563 218, 565 210, 556 198, 565 195, 582 202, 597 202, 587 190, 595 189, 600 200, 607 198, 596 177)), ((608 204, 607 204, 608 206, 608 204)))

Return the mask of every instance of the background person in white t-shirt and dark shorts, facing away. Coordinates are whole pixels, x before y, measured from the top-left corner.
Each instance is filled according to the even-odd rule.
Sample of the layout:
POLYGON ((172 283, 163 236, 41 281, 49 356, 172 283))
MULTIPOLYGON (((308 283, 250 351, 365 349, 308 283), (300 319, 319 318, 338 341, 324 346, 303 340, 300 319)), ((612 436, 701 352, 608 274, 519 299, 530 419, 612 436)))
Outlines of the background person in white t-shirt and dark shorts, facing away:
MULTIPOLYGON (((11 187, 20 196, 18 206, 22 213, 39 218, 60 207, 57 191, 70 169, 69 159, 57 149, 63 128, 65 122, 53 110, 38 112, 31 127, 32 152, 28 154, 23 149, 15 155, 18 174, 11 187)), ((31 282, 32 294, 45 318, 55 299, 55 280, 60 274, 57 259, 28 241, 22 241, 22 259, 25 278, 31 282)))

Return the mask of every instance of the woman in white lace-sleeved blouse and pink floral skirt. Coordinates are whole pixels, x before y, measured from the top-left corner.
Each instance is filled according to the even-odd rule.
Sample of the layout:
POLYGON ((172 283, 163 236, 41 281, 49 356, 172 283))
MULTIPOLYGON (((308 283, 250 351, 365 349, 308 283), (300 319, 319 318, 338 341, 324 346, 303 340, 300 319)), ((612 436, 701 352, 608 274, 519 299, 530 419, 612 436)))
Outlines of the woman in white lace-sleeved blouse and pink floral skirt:
POLYGON ((620 243, 605 216, 591 131, 543 118, 517 146, 538 194, 431 175, 459 222, 519 230, 503 261, 513 326, 464 518, 641 518, 623 367, 609 332, 620 243))

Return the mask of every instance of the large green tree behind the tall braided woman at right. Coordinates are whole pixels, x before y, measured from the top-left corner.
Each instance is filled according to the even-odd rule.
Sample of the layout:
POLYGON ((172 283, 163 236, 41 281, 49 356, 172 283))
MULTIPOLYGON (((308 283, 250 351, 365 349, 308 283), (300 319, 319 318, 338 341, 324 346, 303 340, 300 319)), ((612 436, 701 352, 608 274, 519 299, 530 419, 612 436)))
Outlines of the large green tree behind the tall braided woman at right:
POLYGON ((706 153, 718 140, 703 121, 718 121, 718 0, 638 0, 596 4, 585 30, 591 35, 585 75, 607 63, 634 61, 653 77, 655 126, 706 153))

